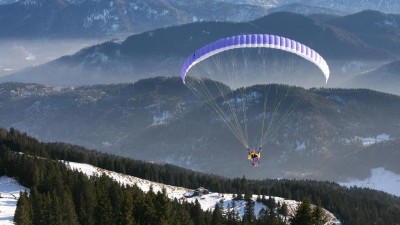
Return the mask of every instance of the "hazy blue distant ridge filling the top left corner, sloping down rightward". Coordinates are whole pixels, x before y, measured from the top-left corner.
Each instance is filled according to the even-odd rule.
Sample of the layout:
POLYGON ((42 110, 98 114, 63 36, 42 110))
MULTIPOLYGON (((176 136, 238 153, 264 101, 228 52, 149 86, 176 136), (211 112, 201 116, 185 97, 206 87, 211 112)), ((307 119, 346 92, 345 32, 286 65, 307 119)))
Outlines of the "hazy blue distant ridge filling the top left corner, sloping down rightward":
POLYGON ((247 21, 265 13, 261 6, 214 0, 21 0, 0 5, 0 37, 113 38, 194 21, 247 21))

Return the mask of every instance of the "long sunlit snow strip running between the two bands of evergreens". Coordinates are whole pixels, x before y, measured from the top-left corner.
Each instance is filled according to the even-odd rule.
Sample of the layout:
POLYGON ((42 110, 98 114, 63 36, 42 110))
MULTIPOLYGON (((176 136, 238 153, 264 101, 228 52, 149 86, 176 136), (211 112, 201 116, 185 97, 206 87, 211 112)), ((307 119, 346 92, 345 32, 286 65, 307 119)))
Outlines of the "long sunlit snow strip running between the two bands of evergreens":
MULTIPOLYGON (((157 182, 152 182, 148 180, 144 180, 141 178, 129 176, 129 175, 124 175, 120 173, 116 173, 113 171, 108 171, 104 169, 100 169, 97 167, 94 167, 89 164, 83 164, 83 163, 75 163, 75 162, 66 162, 67 166, 71 168, 72 170, 77 170, 80 171, 87 176, 100 176, 102 174, 105 174, 109 177, 111 177, 113 180, 119 182, 121 185, 136 185, 138 186, 142 191, 148 192, 150 190, 150 187, 153 188, 154 192, 161 192, 163 188, 165 188, 166 193, 169 198, 171 199, 178 199, 182 201, 187 201, 194 203, 196 200, 200 203, 201 208, 203 210, 213 210, 215 207, 215 204, 217 203, 222 203, 223 208, 225 209, 224 211, 226 212, 226 209, 228 206, 232 205, 233 201, 233 194, 221 194, 221 193, 209 193, 206 195, 203 195, 201 197, 196 196, 192 198, 185 198, 185 193, 191 193, 192 190, 189 190, 187 188, 182 188, 182 187, 175 187, 171 185, 165 185, 157 182)), ((268 196, 266 196, 268 198, 268 196)), ((294 211, 297 208, 297 205, 300 204, 300 202, 296 202, 293 200, 286 200, 283 198, 279 197, 273 197, 275 198, 276 203, 281 203, 285 202, 288 205, 289 209, 289 214, 293 214, 294 211)), ((253 195, 253 200, 255 201, 257 199, 257 195, 253 195)), ((239 215, 242 217, 244 215, 244 209, 245 209, 245 201, 239 200, 235 201, 236 208, 235 210, 239 213, 239 215)), ((256 202, 255 203, 255 214, 258 215, 259 211, 262 208, 267 208, 264 204, 256 202)), ((326 223, 326 225, 340 225, 340 221, 338 221, 330 212, 326 211, 326 214, 329 218, 329 221, 326 223)))

